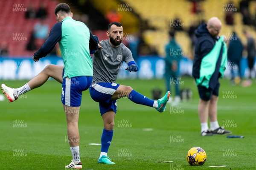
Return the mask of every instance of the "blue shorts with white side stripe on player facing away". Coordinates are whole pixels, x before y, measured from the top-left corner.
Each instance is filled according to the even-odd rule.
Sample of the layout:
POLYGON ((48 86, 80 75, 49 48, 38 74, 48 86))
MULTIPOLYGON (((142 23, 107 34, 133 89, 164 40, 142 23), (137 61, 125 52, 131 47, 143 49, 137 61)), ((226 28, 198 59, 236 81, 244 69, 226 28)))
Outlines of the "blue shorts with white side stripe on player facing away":
POLYGON ((63 105, 79 107, 82 100, 82 91, 87 90, 92 81, 92 76, 65 77, 62 82, 61 92, 63 105))

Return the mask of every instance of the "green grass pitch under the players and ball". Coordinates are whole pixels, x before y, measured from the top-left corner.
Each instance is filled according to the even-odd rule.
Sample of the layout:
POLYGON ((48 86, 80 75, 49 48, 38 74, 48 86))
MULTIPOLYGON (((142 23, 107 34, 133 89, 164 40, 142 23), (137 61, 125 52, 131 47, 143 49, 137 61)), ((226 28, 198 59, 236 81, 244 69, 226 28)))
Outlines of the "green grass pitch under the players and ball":
MULTIPOLYGON (((226 136, 200 136, 197 88, 192 78, 182 77, 181 81, 184 81, 181 88, 192 89, 193 99, 177 106, 167 104, 164 113, 136 105, 127 98, 118 100, 114 136, 108 152, 114 165, 98 164, 100 146, 89 145, 100 143, 103 123, 98 103, 85 91, 79 118, 83 170, 255 170, 255 82, 251 87, 242 88, 221 80, 218 122, 224 123, 233 135, 244 136, 227 139, 226 136), (186 153, 197 146, 206 151, 207 161, 203 166, 192 167, 186 161, 186 153), (209 167, 217 165, 227 167, 209 167)), ((1 83, 17 88, 26 81, 1 83)), ((119 80, 117 83, 129 85, 150 98, 155 87, 165 91, 163 80, 119 80)), ((66 141, 61 84, 49 80, 13 103, 5 99, 0 102, 0 108, 1 170, 65 169, 72 156, 66 141)))

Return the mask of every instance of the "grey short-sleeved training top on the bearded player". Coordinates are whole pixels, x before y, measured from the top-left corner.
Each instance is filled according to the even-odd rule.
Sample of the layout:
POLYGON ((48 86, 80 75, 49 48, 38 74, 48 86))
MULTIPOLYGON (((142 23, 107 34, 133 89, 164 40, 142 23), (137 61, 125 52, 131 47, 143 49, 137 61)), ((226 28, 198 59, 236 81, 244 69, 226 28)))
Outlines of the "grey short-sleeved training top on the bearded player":
POLYGON ((93 54, 93 82, 116 82, 116 77, 125 61, 127 64, 134 61, 131 51, 124 44, 114 48, 108 40, 102 40, 99 48, 93 54))

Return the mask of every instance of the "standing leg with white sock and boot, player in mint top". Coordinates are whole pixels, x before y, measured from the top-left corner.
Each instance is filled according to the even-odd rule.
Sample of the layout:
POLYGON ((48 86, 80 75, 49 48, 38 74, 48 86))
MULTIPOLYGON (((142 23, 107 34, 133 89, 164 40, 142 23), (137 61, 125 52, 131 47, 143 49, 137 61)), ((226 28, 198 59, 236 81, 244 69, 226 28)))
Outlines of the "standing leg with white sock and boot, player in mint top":
POLYGON ((80 150, 79 150, 79 129, 78 129, 78 119, 79 119, 79 109, 80 107, 71 107, 63 105, 64 111, 67 117, 67 138, 70 144, 70 150, 72 153, 72 161, 66 168, 76 168, 81 169, 82 163, 80 161, 80 150))

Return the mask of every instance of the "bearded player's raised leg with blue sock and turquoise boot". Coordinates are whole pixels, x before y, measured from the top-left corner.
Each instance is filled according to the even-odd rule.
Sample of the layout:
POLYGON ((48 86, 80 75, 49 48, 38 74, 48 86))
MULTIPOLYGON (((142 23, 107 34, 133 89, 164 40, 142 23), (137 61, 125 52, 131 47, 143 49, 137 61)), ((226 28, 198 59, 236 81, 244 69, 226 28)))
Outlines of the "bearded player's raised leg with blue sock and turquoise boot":
POLYGON ((168 102, 170 95, 170 91, 167 91, 166 95, 163 96, 161 99, 152 100, 133 90, 130 86, 119 85, 119 87, 116 89, 115 93, 111 97, 111 100, 128 97, 134 103, 150 106, 156 108, 159 112, 163 112, 165 111, 166 103, 168 102))

